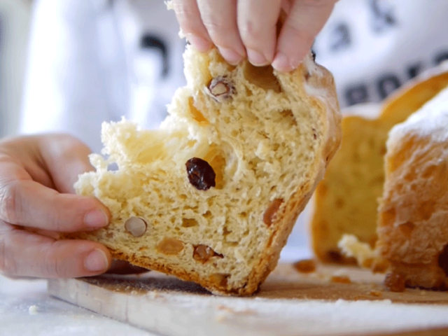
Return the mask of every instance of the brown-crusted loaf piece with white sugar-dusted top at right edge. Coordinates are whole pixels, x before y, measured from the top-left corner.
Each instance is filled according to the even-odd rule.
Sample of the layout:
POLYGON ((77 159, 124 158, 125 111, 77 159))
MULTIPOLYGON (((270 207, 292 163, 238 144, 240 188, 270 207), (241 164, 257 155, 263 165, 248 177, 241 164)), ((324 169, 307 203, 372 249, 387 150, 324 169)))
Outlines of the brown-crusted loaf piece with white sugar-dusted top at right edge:
POLYGON ((407 286, 448 289, 448 86, 391 130, 377 249, 407 286))

